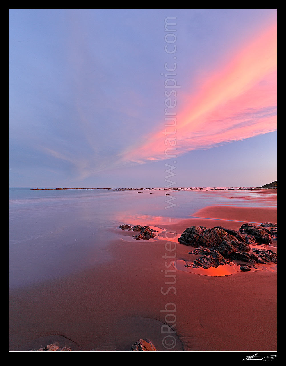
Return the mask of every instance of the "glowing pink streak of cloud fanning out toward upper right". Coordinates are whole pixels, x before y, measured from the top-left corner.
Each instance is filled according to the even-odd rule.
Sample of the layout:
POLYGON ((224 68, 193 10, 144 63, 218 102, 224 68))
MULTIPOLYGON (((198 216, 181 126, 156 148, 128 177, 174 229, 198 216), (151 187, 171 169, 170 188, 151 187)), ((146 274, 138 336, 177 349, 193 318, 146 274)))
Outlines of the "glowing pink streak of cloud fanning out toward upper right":
POLYGON ((275 131, 276 45, 275 25, 241 46, 221 69, 203 80, 198 76, 197 91, 184 96, 189 101, 186 107, 169 109, 177 113, 176 126, 165 127, 168 122, 162 120, 155 134, 130 146, 121 159, 137 163, 165 159, 168 137, 176 137, 178 155, 275 131), (175 133, 165 136, 165 128, 175 133))

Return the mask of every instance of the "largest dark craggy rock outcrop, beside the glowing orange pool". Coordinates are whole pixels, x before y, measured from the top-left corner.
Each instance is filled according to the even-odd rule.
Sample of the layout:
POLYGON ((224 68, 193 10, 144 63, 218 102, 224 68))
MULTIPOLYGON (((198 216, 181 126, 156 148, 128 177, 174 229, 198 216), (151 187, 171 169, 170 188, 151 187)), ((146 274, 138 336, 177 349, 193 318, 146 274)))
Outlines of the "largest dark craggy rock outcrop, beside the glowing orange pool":
MULTIPOLYGON (((263 223, 261 226, 245 223, 236 231, 221 226, 206 228, 203 226, 192 226, 182 233, 178 242, 195 247, 189 254, 200 255, 193 263, 186 263, 186 267, 210 268, 225 265, 231 261, 238 260, 248 263, 277 263, 277 254, 272 250, 257 249, 248 243, 269 244, 271 235, 277 232, 277 225, 274 223, 263 223)), ((242 265, 243 267, 244 265, 242 265)), ((249 266, 244 266, 248 267, 249 266)), ((250 269, 243 268, 242 271, 250 269)))

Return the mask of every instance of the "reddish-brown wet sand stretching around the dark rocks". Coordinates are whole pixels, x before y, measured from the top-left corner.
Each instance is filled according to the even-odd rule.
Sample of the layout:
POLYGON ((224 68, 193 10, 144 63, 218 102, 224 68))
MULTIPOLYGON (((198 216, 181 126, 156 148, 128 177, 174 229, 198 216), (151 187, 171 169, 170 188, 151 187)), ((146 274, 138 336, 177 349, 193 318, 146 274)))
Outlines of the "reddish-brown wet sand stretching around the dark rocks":
POLYGON ((55 341, 75 351, 127 351, 144 338, 158 351, 276 351, 275 266, 204 276, 178 270, 172 262, 195 257, 188 254, 192 247, 176 243, 185 228, 238 229, 246 217, 276 221, 274 210, 215 206, 193 216, 199 213, 207 219, 157 224, 163 231, 154 241, 131 240, 133 232, 118 229, 118 239, 106 249, 112 252, 108 265, 12 290, 11 351, 55 341), (166 250, 167 237, 175 250, 166 250), (176 312, 164 312, 167 303, 175 304, 176 312), (164 324, 163 330, 169 324, 176 335, 162 333, 164 324), (176 345, 170 348, 172 340, 176 345))

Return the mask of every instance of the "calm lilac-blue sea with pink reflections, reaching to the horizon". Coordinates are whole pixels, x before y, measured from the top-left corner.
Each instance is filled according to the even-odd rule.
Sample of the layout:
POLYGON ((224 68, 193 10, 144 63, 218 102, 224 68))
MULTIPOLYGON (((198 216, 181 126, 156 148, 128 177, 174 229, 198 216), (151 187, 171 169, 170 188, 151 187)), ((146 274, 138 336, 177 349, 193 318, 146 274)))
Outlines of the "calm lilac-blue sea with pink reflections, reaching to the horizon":
POLYGON ((38 283, 109 261, 111 254, 105 246, 118 238, 116 228, 124 223, 164 228, 164 223, 192 216, 208 205, 276 204, 261 201, 260 195, 251 191, 162 188, 138 193, 137 189, 114 189, 10 188, 11 287, 38 283))

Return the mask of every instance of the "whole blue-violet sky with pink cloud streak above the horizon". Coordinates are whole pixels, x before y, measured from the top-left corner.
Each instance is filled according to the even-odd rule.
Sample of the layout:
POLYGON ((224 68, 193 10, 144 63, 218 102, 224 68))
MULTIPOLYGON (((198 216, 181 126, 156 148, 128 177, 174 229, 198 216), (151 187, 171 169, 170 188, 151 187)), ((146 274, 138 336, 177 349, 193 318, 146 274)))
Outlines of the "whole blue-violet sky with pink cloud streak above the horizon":
POLYGON ((10 9, 10 187, 277 179, 276 9, 10 9))

